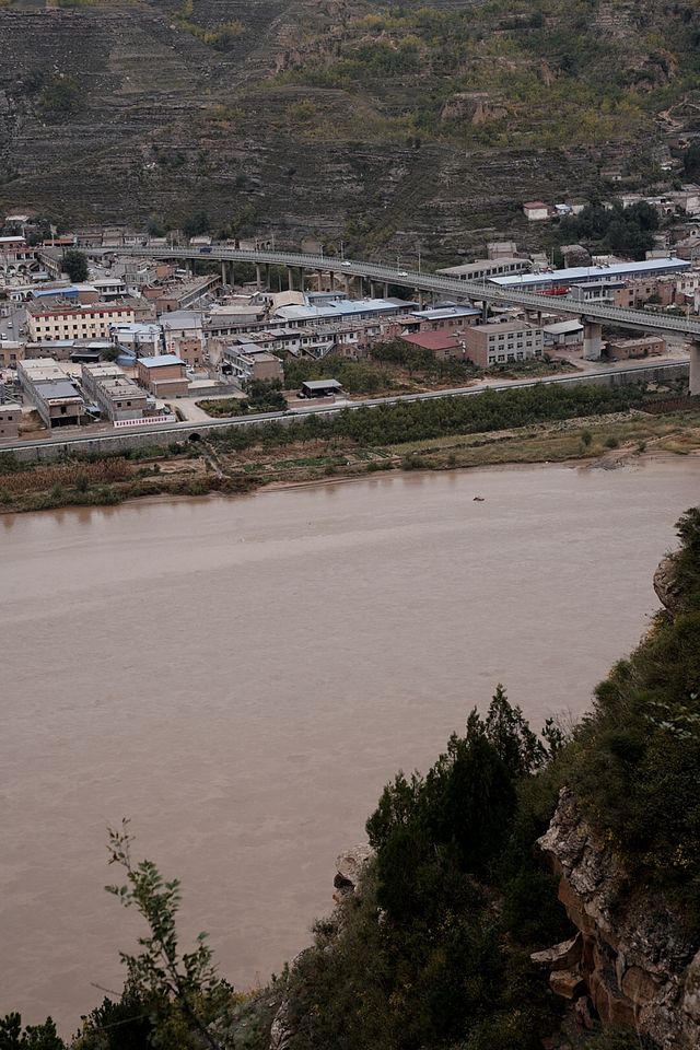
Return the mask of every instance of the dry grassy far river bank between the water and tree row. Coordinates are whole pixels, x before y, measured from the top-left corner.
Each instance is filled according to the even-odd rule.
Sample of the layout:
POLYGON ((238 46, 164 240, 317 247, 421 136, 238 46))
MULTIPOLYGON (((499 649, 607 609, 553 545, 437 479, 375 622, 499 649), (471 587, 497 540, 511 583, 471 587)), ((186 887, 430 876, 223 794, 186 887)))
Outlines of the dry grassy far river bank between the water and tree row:
POLYGON ((619 460, 700 448, 700 410, 639 410, 413 442, 361 444, 311 438, 225 451, 201 440, 152 454, 21 464, 0 455, 0 513, 113 506, 154 497, 242 494, 265 487, 361 478, 392 470, 454 470, 505 464, 619 460))

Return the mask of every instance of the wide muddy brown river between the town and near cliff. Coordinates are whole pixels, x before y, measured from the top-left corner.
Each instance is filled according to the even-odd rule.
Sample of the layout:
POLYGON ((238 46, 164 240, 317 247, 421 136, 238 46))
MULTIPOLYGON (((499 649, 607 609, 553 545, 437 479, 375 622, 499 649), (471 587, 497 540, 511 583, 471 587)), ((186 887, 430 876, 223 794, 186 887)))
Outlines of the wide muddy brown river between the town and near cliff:
POLYGON ((0 1016, 69 1034, 119 987, 124 815, 221 972, 279 972, 383 784, 498 681, 581 714, 699 499, 688 457, 0 516, 0 1016))

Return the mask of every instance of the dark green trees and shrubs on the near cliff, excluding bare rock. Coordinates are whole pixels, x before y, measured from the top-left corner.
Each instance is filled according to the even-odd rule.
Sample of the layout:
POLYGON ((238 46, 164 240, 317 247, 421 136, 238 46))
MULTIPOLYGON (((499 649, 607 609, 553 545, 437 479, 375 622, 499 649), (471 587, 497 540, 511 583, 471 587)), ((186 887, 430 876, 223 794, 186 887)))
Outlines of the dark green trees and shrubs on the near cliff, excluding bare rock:
POLYGON ((354 890, 268 988, 235 993, 203 934, 183 952, 178 883, 132 860, 125 824, 109 833, 109 862, 126 882, 107 889, 138 908, 148 933, 121 956, 122 995, 106 998, 68 1045, 50 1018, 23 1031, 9 1015, 2 1050, 540 1050, 542 1039, 653 1050, 632 1028, 568 1027, 530 953, 571 932, 537 847, 562 785, 591 831, 615 844, 619 905, 653 898, 700 944, 700 509, 677 528, 673 603, 582 722, 548 720, 538 736, 498 686, 486 715, 472 711, 424 775, 387 784, 354 890))

